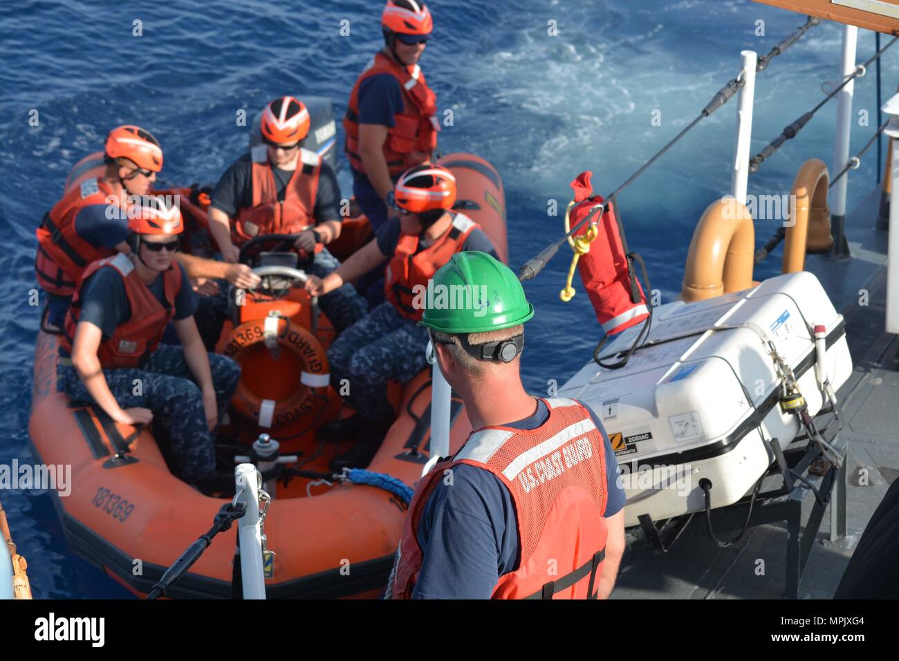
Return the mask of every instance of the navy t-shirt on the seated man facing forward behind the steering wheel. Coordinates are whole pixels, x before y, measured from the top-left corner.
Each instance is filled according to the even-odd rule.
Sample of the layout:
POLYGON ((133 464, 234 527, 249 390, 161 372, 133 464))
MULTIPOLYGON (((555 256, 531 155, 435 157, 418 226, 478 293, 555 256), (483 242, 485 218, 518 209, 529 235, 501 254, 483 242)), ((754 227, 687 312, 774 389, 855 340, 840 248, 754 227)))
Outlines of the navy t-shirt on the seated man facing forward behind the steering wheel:
MULTIPOLYGON (((298 163, 297 166, 301 167, 302 164, 298 163)), ((272 167, 271 173, 274 175, 275 186, 280 196, 290 182, 294 171, 272 167)), ((343 220, 340 215, 340 202, 341 192, 340 184, 337 183, 337 175, 334 174, 331 165, 323 161, 321 173, 318 176, 316 208, 313 210, 316 223, 343 220)), ((215 191, 212 192, 212 206, 224 211, 230 218, 234 218, 238 210, 250 209, 253 206, 253 161, 249 154, 238 158, 225 171, 225 174, 222 174, 215 191)))

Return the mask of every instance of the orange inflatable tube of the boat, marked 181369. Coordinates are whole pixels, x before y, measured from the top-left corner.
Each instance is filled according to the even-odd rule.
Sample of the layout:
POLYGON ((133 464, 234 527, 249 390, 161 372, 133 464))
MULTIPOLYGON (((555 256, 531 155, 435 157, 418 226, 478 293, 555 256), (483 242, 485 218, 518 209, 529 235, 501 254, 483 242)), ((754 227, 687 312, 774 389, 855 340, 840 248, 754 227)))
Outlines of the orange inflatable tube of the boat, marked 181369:
MULTIPOLYGON (((500 174, 473 154, 449 154, 440 163, 456 176, 458 200, 464 207, 460 210, 484 228, 505 261, 508 250, 500 174)), ((262 322, 264 338, 264 318, 262 322)), ((278 331, 283 330, 282 324, 278 331)), ((293 326, 291 323, 291 331, 293 326)), ((280 358, 274 360, 264 339, 258 340, 256 334, 254 330, 252 337, 247 337, 244 332, 243 343, 238 335, 234 349, 245 352, 244 378, 251 389, 269 398, 282 398, 298 388, 298 381, 316 389, 316 385, 302 383, 303 363, 292 348, 278 344, 280 358)), ((288 333, 288 344, 290 339, 288 333)), ((58 347, 58 336, 38 333, 29 423, 31 451, 40 464, 72 467, 75 487, 71 494, 50 489, 70 548, 133 593, 147 594, 197 535, 209 530, 212 518, 230 498, 204 496, 176 478, 150 427, 115 423, 99 407, 80 406, 59 392, 58 347), (128 460, 121 460, 123 456, 128 460), (142 567, 139 573, 134 571, 137 558, 142 567)), ((315 355, 323 358, 323 354, 315 355)), ((322 361, 321 371, 311 365, 305 371, 322 377, 328 371, 326 364, 322 361)), ((396 421, 368 469, 411 487, 430 458, 430 367, 396 389, 393 403, 396 421)), ((458 451, 472 431, 458 397, 452 399, 449 420, 449 450, 458 451)), ((237 426, 245 427, 244 440, 268 431, 244 422, 237 421, 237 426)), ((302 453, 310 458, 319 446, 313 434, 295 438, 272 435, 281 443, 282 455, 302 453)), ((321 462, 308 464, 312 470, 316 465, 321 462)), ((405 506, 393 493, 345 482, 334 487, 313 486, 311 478, 298 477, 289 484, 279 481, 272 496, 276 497, 264 530, 268 549, 275 552, 265 567, 267 598, 379 598, 384 594, 406 516, 405 506)), ((236 526, 223 532, 166 596, 230 598, 235 544, 236 526)))

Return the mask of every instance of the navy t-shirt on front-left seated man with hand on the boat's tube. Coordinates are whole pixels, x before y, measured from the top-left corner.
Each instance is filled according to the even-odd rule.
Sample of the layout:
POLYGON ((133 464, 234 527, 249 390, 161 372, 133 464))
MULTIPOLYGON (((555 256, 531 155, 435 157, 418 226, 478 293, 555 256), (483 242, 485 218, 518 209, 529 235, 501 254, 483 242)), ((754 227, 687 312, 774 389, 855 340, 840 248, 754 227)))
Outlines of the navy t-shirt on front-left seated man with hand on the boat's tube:
MULTIPOLYGON (((191 317, 197 311, 197 294, 187 279, 187 273, 178 262, 173 264, 181 272, 181 290, 174 301, 174 320, 191 317)), ((148 285, 160 303, 163 303, 163 274, 148 285)), ((78 321, 89 321, 102 330, 103 340, 108 340, 117 326, 131 318, 131 304, 125 293, 125 281, 112 266, 104 266, 88 278, 81 289, 81 315, 78 321)))

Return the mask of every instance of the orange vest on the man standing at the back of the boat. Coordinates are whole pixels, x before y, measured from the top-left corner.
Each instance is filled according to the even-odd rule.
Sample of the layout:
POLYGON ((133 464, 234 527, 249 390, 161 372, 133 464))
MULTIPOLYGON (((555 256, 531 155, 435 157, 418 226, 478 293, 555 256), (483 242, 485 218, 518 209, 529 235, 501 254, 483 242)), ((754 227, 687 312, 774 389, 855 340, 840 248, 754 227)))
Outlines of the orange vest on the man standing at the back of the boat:
POLYGON ((429 157, 437 148, 437 133, 441 130, 437 121, 437 96, 428 87, 421 67, 417 64, 403 67, 382 52, 375 55, 375 61, 367 68, 350 94, 350 105, 343 117, 346 132, 346 156, 350 165, 365 174, 365 165, 359 155, 359 87, 371 76, 390 74, 399 82, 403 90, 405 107, 394 115, 395 125, 387 130, 384 143, 384 157, 390 176, 401 174, 413 165, 422 165, 421 159, 414 159, 411 152, 420 151, 429 157))

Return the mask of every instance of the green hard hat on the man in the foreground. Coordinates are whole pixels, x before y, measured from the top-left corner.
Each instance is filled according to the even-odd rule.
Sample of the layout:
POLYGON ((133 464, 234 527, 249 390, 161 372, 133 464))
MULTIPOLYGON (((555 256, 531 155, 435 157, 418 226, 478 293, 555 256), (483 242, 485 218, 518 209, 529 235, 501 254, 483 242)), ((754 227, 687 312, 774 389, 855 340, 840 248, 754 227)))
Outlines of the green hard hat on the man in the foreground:
POLYGON ((456 253, 434 273, 419 326, 442 333, 485 333, 534 316, 508 266, 477 251, 456 253))

